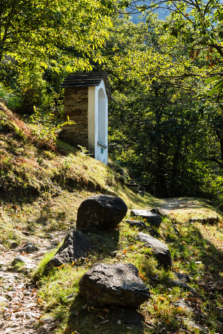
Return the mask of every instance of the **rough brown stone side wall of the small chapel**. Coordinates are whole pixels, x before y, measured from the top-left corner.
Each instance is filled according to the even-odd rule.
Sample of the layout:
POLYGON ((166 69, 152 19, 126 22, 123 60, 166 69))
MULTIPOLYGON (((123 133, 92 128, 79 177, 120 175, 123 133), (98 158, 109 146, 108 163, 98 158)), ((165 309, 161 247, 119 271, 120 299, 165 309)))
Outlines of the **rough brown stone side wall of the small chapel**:
POLYGON ((88 87, 65 88, 64 122, 67 121, 67 116, 77 124, 65 125, 59 137, 88 149, 88 87))

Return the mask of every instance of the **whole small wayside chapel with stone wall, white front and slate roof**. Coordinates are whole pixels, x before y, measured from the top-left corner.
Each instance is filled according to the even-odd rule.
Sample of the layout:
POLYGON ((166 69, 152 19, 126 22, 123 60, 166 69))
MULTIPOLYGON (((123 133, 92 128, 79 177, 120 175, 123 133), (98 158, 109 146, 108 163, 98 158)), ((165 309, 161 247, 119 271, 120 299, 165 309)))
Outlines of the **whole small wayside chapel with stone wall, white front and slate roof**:
POLYGON ((92 156, 108 163, 108 101, 112 99, 107 72, 69 73, 64 88, 64 126, 59 137, 86 147, 92 156))

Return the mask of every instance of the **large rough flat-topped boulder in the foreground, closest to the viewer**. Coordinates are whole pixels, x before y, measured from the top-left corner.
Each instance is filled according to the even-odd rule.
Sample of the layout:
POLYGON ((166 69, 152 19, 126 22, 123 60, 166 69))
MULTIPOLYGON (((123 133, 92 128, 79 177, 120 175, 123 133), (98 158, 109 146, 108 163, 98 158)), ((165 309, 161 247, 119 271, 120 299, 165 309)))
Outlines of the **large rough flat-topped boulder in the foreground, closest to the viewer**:
POLYGON ((98 264, 82 276, 79 291, 90 301, 136 309, 150 297, 150 291, 132 264, 98 264))

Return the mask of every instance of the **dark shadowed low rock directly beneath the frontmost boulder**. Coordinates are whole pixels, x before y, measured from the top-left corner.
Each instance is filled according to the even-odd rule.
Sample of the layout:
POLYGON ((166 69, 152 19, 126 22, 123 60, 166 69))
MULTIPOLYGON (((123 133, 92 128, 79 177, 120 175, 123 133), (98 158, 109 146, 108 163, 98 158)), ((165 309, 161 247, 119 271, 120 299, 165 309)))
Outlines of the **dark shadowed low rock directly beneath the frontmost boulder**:
POLYGON ((118 306, 112 306, 110 310, 116 321, 121 320, 121 322, 127 326, 142 326, 141 317, 137 311, 127 308, 123 309, 123 307, 120 308, 118 306))

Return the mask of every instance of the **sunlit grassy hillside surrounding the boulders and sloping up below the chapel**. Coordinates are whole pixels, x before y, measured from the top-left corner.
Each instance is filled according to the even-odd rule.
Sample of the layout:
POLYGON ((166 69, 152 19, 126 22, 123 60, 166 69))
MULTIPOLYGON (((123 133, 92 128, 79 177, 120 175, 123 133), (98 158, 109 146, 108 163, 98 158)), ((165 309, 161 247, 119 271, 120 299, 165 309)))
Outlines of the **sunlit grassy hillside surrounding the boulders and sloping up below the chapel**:
POLYGON ((169 210, 170 218, 154 228, 153 235, 168 244, 171 270, 163 269, 151 249, 136 240, 138 229, 129 228, 126 218, 114 229, 89 235, 95 249, 92 258, 44 276, 44 264, 56 249, 44 256, 27 280, 34 277, 40 281, 37 304, 45 315, 59 319, 57 333, 196 333, 198 325, 213 334, 223 333, 223 224, 217 209, 199 198, 164 200, 148 193, 142 198, 123 185, 115 163, 105 166, 66 143, 40 141, 4 105, 0 109, 0 239, 5 248, 10 239, 18 244, 27 237, 41 241, 48 237, 47 232, 72 230, 80 203, 105 189, 115 191, 125 201, 126 218, 132 208, 160 206, 169 210), (189 221, 213 215, 220 217, 214 225, 189 221), (117 256, 112 258, 110 253, 115 250, 117 256), (151 299, 139 309, 143 329, 119 325, 112 312, 108 313, 109 321, 102 324, 91 308, 93 304, 83 308, 87 302, 78 294, 79 280, 90 266, 100 262, 133 263, 139 269, 151 291, 151 299), (170 280, 174 272, 189 275, 198 296, 173 287, 170 280), (70 293, 74 297, 68 301, 70 293), (186 299, 190 308, 176 306, 186 299))

